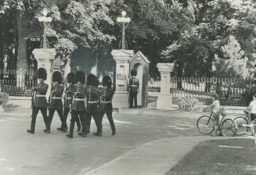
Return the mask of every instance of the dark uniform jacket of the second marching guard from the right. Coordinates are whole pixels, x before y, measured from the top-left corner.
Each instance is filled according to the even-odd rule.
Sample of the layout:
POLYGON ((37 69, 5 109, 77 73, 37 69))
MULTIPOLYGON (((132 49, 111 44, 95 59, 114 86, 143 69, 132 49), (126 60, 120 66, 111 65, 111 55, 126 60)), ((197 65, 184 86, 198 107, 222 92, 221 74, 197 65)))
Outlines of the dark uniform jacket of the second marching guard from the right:
POLYGON ((99 112, 99 97, 100 89, 98 87, 88 86, 87 93, 87 107, 86 112, 96 113, 99 112))

